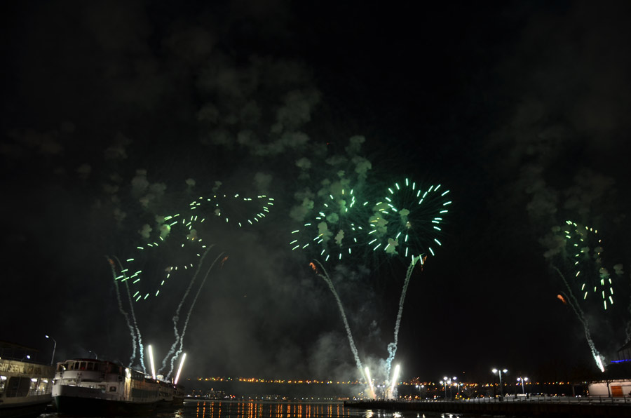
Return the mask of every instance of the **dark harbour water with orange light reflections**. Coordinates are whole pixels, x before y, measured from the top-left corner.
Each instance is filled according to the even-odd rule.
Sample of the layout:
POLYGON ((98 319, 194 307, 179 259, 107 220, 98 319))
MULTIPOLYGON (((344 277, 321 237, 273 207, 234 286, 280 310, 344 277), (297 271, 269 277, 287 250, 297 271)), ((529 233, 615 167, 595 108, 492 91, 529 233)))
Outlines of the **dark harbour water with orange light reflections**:
MULTIPOLYGON (((57 418, 57 414, 42 414, 40 418, 57 418)), ((186 400, 175 409, 154 412, 142 417, 152 418, 476 418, 473 414, 443 414, 440 412, 361 410, 345 407, 344 403, 303 403, 241 400, 186 400)))

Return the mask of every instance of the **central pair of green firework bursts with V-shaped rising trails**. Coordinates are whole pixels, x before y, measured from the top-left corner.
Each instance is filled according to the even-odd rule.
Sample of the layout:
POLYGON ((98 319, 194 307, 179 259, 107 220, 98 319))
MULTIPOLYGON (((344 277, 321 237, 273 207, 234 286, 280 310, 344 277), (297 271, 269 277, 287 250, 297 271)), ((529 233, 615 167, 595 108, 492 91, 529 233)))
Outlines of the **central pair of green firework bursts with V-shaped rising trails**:
MULTIPOLYGON (((409 260, 399 300, 394 341, 388 344, 385 372, 389 376, 397 351, 409 280, 416 264, 425 262, 426 253, 435 255, 434 248, 442 245, 438 237, 442 234, 444 219, 452 203, 447 197, 449 190, 440 184, 423 188, 405 179, 401 184, 395 183, 388 188, 388 194, 383 199, 369 203, 358 199, 355 190, 348 188, 348 182, 340 181, 331 186, 327 189, 323 205, 315 210, 314 217, 300 229, 292 231, 290 245, 292 250, 317 248, 323 262, 330 259, 342 262, 358 252, 360 255, 372 253, 379 257, 402 256, 409 260)), ((358 369, 368 374, 367 369, 362 370, 344 307, 332 281, 320 262, 318 265, 311 262, 310 266, 315 274, 325 280, 333 293, 358 369)), ((372 383, 369 375, 367 381, 372 383)))

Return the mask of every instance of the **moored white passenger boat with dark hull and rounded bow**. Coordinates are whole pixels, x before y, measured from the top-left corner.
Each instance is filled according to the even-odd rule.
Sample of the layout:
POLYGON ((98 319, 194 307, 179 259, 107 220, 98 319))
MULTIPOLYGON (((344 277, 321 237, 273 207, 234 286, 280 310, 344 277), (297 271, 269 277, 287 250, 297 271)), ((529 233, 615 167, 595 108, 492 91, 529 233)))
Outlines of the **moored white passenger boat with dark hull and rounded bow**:
POLYGON ((131 415, 156 410, 168 391, 143 372, 108 360, 75 358, 57 363, 53 403, 68 415, 131 415))

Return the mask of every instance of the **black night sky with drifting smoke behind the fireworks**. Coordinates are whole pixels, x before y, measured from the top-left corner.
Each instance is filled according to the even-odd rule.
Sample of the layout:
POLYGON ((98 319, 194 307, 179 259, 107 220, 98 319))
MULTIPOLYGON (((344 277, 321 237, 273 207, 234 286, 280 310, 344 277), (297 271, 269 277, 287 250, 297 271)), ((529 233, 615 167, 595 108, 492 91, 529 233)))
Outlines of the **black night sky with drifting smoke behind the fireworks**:
MULTIPOLYGON (((291 231, 339 184, 370 212, 408 177, 442 184, 453 203, 440 233, 412 238, 423 252, 434 234, 442 245, 409 281, 403 379, 595 371, 572 305, 615 358, 631 336, 627 2, 181 3, 1 6, 0 339, 50 358, 50 334, 57 360, 93 351, 127 364, 104 255, 137 257, 132 293, 161 289, 133 303, 156 357, 199 290, 185 374, 355 379, 336 299, 308 265, 320 251, 292 251, 291 231), (155 253, 137 246, 216 190, 255 202, 221 201, 227 223, 202 205, 196 236, 214 246, 201 273, 191 282, 194 264, 161 286, 165 263, 201 259, 179 247, 191 233, 173 228, 155 253), (269 214, 238 227, 262 194, 269 214), (601 289, 583 299, 566 220, 602 239, 583 274, 611 278, 606 311, 601 289)), ((327 222, 334 236, 350 221, 327 222)), ((362 363, 383 370, 408 261, 348 246, 323 263, 362 363)))

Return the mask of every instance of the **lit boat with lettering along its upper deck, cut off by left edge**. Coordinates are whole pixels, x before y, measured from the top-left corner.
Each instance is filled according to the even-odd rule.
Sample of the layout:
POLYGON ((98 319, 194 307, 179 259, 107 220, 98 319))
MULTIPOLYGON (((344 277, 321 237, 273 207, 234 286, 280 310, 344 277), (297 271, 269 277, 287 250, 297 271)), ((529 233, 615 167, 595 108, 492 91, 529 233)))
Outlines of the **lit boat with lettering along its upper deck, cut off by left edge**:
POLYGON ((32 362, 34 352, 0 342, 0 418, 38 417, 51 402, 55 368, 32 362))

